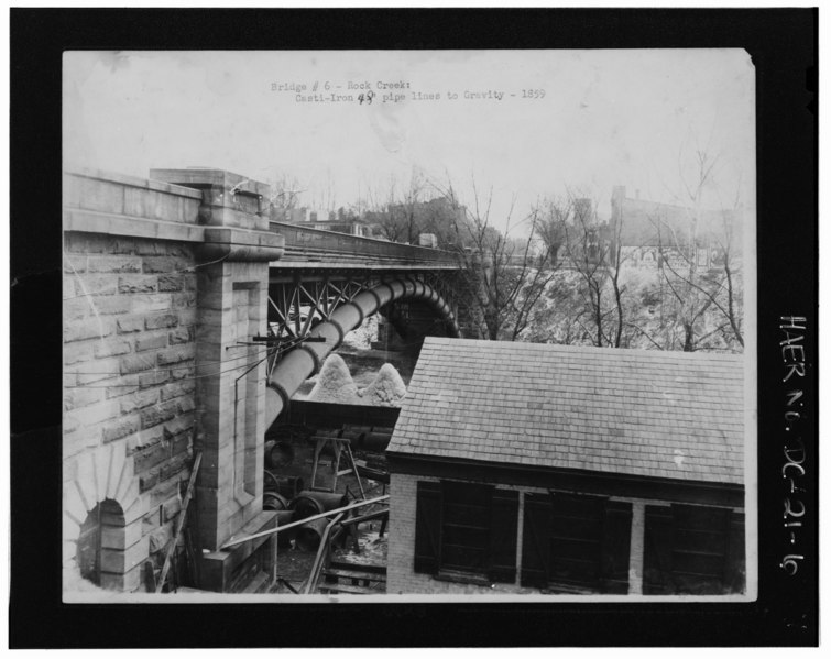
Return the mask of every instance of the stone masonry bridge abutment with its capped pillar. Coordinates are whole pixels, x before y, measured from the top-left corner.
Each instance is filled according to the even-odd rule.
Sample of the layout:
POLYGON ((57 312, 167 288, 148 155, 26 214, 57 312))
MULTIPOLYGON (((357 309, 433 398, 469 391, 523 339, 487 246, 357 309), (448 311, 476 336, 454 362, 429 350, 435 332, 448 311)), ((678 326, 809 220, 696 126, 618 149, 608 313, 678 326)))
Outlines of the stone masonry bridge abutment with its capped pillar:
POLYGON ((147 563, 158 573, 194 451, 189 516, 210 574, 223 541, 273 524, 264 350, 239 343, 266 331, 269 262, 283 251, 267 186, 216 169, 84 171, 63 190, 65 583, 79 583, 94 510, 97 585, 136 591, 147 563))

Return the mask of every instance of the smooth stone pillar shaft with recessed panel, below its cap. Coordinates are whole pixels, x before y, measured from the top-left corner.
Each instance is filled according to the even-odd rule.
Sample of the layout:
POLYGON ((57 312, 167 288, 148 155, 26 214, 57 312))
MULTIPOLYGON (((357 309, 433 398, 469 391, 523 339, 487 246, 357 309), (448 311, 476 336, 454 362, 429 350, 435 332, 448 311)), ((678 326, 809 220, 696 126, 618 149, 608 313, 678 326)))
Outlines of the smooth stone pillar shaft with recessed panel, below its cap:
POLYGON ((266 351, 251 338, 266 332, 267 272, 267 263, 218 263, 198 275, 197 396, 205 441, 197 442, 203 466, 196 502, 203 547, 211 551, 262 509, 266 351))

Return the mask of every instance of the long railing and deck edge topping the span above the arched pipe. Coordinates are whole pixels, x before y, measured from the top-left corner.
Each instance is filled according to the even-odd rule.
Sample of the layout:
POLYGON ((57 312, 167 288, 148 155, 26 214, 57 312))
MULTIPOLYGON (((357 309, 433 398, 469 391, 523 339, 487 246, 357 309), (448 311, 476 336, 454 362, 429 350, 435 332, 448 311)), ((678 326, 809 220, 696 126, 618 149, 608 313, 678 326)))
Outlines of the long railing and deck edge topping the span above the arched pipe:
POLYGON ((446 250, 406 245, 374 238, 349 235, 322 229, 308 229, 285 222, 269 222, 271 230, 285 237, 285 261, 308 261, 337 256, 347 261, 396 261, 458 265, 458 255, 446 250))

